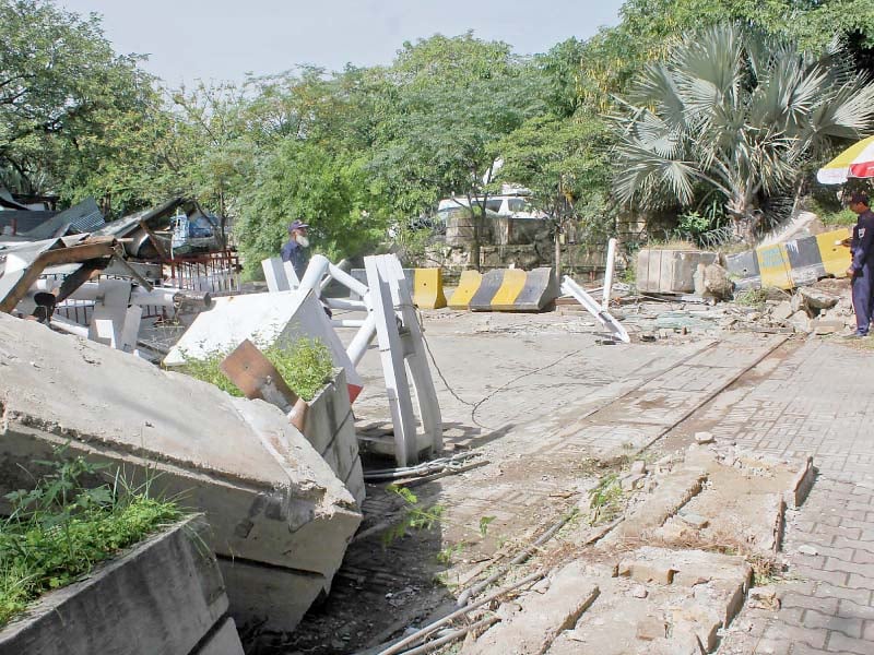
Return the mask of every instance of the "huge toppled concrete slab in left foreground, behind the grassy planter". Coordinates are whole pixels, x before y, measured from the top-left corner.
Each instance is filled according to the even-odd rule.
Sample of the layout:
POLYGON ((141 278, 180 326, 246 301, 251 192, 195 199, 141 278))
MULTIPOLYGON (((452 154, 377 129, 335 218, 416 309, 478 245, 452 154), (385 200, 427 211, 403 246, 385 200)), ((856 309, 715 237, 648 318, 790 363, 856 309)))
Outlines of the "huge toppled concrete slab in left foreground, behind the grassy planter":
POLYGON ((0 314, 0 495, 70 455, 121 467, 205 513, 232 616, 293 629, 327 593, 362 521, 277 408, 0 314), (180 402, 181 401, 181 402, 180 402))

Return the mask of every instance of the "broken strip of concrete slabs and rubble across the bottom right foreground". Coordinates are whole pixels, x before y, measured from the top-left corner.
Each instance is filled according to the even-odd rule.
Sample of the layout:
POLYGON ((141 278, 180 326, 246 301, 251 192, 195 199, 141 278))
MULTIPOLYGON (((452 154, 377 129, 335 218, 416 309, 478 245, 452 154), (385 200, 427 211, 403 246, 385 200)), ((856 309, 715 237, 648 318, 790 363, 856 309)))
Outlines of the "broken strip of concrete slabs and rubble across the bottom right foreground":
MULTIPOLYGON (((500 622, 462 653, 701 655, 745 603, 779 608, 772 587, 753 586, 754 565, 779 552, 787 503, 798 507, 813 484, 811 458, 791 466, 696 443, 629 469, 650 491, 593 548, 556 567, 545 590, 498 608, 500 622)), ((566 539, 586 543, 574 532, 566 539)))

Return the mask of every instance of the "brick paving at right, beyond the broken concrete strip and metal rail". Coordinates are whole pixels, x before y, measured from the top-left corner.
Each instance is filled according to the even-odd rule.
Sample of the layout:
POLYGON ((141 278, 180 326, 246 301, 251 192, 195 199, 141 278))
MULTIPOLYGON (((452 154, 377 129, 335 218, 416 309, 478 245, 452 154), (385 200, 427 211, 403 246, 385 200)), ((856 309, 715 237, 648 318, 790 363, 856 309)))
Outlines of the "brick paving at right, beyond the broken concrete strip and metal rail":
POLYGON ((813 454, 819 469, 788 516, 781 609, 745 610, 720 653, 874 653, 872 404, 874 353, 810 341, 734 405, 705 413, 724 439, 792 460, 813 454))

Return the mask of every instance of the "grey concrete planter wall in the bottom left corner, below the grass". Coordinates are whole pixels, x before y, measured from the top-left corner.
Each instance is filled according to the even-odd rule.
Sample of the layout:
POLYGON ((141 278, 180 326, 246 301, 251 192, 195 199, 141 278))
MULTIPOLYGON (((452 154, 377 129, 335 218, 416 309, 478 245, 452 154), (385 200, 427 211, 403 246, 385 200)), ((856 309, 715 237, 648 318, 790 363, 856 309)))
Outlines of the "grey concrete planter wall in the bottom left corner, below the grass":
POLYGON ((0 653, 193 653, 218 627, 221 652, 243 655, 208 533, 189 519, 44 595, 0 630, 0 653))

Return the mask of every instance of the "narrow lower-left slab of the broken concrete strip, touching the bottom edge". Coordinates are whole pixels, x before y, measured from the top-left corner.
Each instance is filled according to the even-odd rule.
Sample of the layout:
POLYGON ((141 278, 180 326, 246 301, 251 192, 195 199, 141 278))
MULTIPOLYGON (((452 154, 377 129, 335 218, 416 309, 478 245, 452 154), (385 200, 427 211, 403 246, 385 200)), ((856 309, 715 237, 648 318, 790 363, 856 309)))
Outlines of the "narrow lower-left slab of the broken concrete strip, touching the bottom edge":
POLYGON ((598 584, 584 575, 580 563, 568 564, 555 574, 545 594, 522 597, 522 611, 489 628, 461 652, 468 655, 544 653, 562 632, 576 624, 599 593, 598 584))

